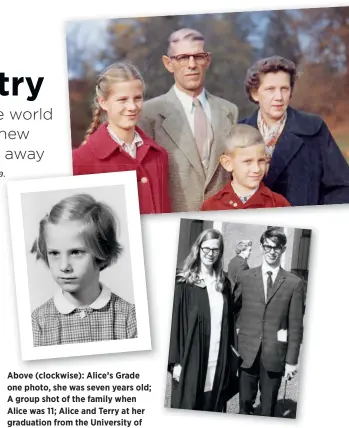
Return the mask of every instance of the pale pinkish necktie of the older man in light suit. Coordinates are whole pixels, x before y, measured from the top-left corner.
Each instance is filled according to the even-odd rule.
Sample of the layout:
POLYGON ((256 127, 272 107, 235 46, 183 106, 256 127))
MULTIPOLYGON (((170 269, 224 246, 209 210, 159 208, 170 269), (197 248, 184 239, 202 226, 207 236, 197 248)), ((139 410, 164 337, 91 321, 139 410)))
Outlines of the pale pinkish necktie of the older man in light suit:
POLYGON ((211 125, 208 123, 204 108, 200 100, 193 98, 194 111, 194 138, 204 167, 208 167, 210 145, 213 139, 211 125))

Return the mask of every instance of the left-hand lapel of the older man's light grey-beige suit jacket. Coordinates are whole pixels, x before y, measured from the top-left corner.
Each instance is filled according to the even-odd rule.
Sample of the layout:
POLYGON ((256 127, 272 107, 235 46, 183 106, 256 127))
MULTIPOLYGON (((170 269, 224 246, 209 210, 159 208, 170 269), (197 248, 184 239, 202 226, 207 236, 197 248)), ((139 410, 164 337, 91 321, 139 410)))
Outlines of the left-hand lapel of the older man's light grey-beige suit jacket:
POLYGON ((162 122, 162 127, 172 141, 184 153, 195 170, 204 177, 205 173, 199 153, 196 149, 193 133, 190 129, 182 104, 177 98, 173 88, 166 94, 165 106, 165 119, 162 122))

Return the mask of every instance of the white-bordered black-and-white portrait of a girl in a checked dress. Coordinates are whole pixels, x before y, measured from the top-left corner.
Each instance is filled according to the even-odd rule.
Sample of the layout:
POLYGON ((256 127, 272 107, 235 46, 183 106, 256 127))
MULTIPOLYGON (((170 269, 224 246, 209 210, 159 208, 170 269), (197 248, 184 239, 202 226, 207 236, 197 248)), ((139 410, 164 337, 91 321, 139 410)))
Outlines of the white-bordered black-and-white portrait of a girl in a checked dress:
POLYGON ((23 356, 48 356, 53 347, 55 356, 144 349, 134 173, 113 174, 107 183, 102 176, 15 182, 10 195, 23 356))

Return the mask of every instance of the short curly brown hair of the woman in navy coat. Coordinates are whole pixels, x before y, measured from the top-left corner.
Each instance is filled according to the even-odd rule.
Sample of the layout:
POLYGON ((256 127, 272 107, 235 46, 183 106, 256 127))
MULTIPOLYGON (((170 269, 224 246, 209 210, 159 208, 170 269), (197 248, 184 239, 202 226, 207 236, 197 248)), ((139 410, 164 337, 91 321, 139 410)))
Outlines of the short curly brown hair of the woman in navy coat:
POLYGON ((294 62, 283 58, 282 56, 271 56, 269 58, 263 58, 256 61, 246 73, 245 78, 245 91, 248 98, 255 104, 258 104, 252 96, 251 91, 257 90, 261 84, 261 75, 267 73, 277 73, 278 71, 284 71, 290 75, 291 94, 294 88, 294 84, 297 78, 297 70, 294 62))

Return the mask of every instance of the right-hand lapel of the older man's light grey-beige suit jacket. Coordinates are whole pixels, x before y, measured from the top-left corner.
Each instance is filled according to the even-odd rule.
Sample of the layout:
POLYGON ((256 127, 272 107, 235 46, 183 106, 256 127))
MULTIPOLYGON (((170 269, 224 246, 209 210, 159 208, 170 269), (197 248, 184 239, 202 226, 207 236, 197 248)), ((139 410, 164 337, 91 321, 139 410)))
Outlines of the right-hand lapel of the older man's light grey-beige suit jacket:
POLYGON ((232 119, 229 118, 230 111, 218 98, 206 91, 207 100, 211 110, 211 125, 213 130, 213 142, 210 151, 210 161, 207 168, 206 183, 211 181, 219 164, 219 158, 224 151, 224 142, 228 137, 232 126, 232 119))

